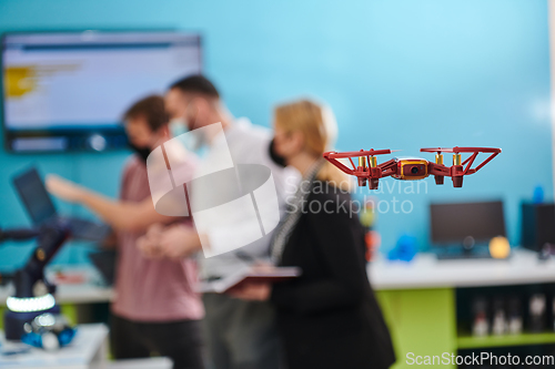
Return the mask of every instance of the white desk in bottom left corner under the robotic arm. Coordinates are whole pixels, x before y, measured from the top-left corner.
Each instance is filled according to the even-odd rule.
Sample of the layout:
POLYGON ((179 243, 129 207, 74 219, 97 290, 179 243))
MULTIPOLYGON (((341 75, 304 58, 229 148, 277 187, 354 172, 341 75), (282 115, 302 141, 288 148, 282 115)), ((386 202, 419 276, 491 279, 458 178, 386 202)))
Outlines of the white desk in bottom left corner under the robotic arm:
MULTIPOLYGON (((21 342, 6 342, 0 334, 0 350, 28 347, 21 342)), ((0 355, 2 369, 97 369, 107 366, 108 328, 104 325, 78 326, 71 345, 53 352, 31 348, 30 351, 13 356, 0 355)))

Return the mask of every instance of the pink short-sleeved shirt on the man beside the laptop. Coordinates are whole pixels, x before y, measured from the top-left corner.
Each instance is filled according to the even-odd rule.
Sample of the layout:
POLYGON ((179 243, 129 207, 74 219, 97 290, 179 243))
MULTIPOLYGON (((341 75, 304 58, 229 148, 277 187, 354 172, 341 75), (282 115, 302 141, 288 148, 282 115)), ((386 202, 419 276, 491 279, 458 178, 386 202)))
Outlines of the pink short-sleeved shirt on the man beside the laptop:
MULTIPOLYGON (((137 155, 125 165, 120 197, 130 202, 150 197, 147 165, 137 155)), ((204 309, 193 290, 198 277, 194 260, 144 258, 137 248, 137 239, 143 234, 118 232, 117 296, 112 311, 137 321, 201 319, 204 309)))

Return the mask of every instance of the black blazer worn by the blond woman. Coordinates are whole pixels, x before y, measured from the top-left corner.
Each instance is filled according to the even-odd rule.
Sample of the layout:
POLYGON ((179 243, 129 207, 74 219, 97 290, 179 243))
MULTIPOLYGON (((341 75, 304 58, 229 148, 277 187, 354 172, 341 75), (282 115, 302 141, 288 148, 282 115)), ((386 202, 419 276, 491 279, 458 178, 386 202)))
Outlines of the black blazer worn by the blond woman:
POLYGON ((271 299, 289 369, 389 368, 395 355, 370 286, 364 229, 350 196, 315 182, 283 249, 302 276, 275 284, 271 299))

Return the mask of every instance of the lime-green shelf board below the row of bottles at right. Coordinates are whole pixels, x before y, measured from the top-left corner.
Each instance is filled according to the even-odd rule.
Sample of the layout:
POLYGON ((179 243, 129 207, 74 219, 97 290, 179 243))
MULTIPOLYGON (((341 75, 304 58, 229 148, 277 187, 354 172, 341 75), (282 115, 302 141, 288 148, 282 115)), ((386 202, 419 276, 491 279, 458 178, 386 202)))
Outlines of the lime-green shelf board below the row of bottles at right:
POLYGON ((547 344, 555 344, 555 332, 485 336, 485 337, 461 335, 457 337, 457 347, 460 350, 487 348, 487 347, 528 346, 528 345, 547 345, 547 344))

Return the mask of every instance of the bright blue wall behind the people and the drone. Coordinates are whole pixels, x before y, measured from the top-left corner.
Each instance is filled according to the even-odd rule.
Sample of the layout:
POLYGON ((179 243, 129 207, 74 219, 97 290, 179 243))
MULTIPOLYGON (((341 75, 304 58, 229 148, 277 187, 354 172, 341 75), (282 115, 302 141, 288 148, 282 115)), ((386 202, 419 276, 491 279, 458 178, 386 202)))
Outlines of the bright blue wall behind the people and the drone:
MULTIPOLYGON (((546 0, 0 1, 0 31, 94 28, 200 31, 205 71, 235 115, 269 125, 275 102, 320 96, 337 115, 339 150, 504 150, 463 189, 430 178, 420 194, 404 194, 406 183, 400 194, 400 182, 382 181, 380 201, 413 205, 410 214, 380 215, 384 249, 403 233, 427 247, 430 201, 481 198, 505 201, 516 244, 519 202, 536 184, 553 197, 546 0)), ((125 155, 0 153, 0 225, 27 222, 9 177, 30 162, 115 195, 125 155)), ((24 253, 0 249, 0 268, 24 253)), ((59 259, 79 262, 82 252, 59 259)))

